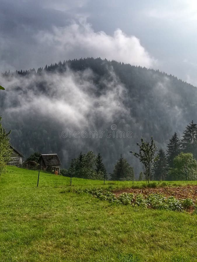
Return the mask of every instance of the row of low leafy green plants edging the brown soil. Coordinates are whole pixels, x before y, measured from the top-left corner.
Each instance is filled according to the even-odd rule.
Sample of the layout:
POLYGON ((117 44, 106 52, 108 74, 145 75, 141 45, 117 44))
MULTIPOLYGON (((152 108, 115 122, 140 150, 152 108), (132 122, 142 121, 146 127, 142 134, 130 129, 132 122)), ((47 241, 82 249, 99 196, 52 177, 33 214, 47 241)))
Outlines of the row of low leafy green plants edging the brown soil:
POLYGON ((97 197, 100 200, 106 200, 111 203, 122 204, 122 205, 132 205, 132 206, 141 206, 143 208, 157 208, 157 209, 166 209, 174 211, 183 211, 191 207, 196 207, 193 199, 176 199, 175 197, 165 197, 162 194, 149 194, 144 196, 143 194, 133 194, 124 192, 122 194, 116 195, 110 190, 101 190, 101 189, 84 189, 76 190, 78 194, 87 193, 93 197, 97 197))

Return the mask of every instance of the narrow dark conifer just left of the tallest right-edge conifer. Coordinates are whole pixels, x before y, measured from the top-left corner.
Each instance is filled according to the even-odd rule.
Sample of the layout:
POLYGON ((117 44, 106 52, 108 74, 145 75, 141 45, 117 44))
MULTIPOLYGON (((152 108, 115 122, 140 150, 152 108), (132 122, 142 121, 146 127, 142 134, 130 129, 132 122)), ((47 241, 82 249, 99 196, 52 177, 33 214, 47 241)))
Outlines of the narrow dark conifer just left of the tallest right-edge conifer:
POLYGON ((173 167, 174 158, 180 153, 181 151, 181 141, 179 140, 177 133, 175 132, 172 138, 170 139, 170 143, 168 144, 167 149, 167 159, 168 159, 168 166, 173 167))

